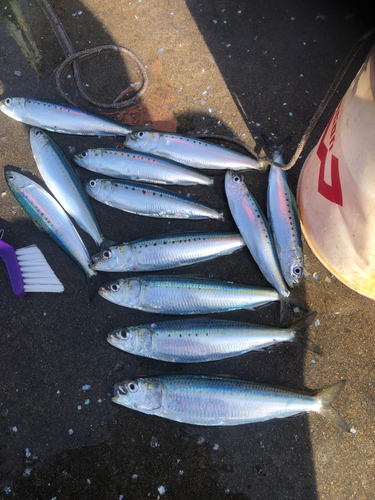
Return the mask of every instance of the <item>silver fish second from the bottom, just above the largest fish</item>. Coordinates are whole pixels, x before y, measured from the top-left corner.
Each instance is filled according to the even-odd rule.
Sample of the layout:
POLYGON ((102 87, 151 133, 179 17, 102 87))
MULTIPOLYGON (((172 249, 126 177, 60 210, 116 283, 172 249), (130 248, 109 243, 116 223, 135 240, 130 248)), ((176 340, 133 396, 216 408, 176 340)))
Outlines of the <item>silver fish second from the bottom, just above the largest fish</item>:
POLYGON ((297 342, 317 352, 302 333, 314 317, 289 328, 220 319, 181 319, 117 328, 108 342, 122 351, 175 363, 201 363, 259 351, 280 342, 297 342))

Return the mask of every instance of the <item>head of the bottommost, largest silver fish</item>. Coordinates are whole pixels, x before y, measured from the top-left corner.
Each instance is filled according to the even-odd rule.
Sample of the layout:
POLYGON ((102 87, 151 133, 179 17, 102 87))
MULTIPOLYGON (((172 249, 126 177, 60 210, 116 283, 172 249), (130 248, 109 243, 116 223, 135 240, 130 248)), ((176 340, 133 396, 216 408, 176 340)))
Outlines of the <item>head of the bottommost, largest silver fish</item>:
POLYGON ((115 384, 112 401, 127 408, 152 413, 161 408, 162 397, 160 382, 139 377, 115 384))

